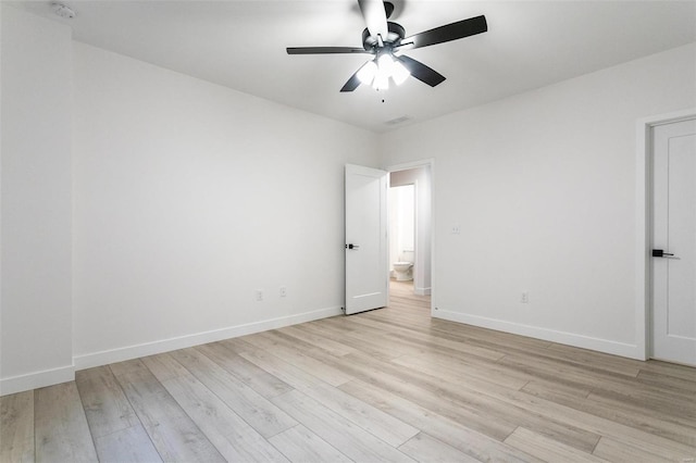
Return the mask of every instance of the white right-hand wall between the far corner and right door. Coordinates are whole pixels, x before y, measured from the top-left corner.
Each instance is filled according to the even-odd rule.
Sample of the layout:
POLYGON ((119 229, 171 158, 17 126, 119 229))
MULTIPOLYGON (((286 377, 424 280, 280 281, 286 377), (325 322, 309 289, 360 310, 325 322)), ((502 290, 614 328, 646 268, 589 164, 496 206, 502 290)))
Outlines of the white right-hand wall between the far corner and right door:
POLYGON ((436 160, 435 316, 643 358, 636 121, 696 107, 695 71, 691 45, 385 134, 383 165, 436 160))

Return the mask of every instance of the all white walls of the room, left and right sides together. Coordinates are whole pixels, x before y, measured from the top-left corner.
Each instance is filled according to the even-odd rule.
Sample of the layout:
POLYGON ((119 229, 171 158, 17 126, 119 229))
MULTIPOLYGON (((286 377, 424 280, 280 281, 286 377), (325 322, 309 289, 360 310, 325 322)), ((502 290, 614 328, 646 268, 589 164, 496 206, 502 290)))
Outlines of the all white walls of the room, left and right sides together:
POLYGON ((344 164, 423 152, 437 316, 639 356, 635 122, 694 46, 376 136, 1 9, 0 393, 337 313, 344 164))

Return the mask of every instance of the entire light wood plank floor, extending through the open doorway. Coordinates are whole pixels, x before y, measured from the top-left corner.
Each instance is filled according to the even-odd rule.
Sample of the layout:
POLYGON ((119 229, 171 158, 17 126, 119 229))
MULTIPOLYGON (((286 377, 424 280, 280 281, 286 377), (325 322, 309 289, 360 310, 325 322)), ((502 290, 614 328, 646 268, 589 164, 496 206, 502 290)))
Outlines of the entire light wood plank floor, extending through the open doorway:
POLYGON ((432 320, 428 298, 5 396, 0 461, 696 461, 696 370, 432 320))

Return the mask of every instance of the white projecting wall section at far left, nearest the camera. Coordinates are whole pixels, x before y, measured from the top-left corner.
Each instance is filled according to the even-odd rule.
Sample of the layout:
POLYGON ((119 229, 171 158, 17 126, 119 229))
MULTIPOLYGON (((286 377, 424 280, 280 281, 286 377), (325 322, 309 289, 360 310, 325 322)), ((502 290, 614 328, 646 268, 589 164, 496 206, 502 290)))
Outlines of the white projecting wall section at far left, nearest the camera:
POLYGON ((72 42, 67 27, 2 11, 0 388, 70 380, 72 42))

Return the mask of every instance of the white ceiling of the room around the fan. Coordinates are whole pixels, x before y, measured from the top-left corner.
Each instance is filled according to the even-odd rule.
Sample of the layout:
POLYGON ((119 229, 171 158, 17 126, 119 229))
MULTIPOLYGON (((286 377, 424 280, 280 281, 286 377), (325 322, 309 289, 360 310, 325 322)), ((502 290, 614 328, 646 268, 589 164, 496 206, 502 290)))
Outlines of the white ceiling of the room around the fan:
POLYGON ((11 3, 69 24, 76 40, 374 132, 696 41, 696 0, 396 0, 390 21, 407 36, 480 14, 488 32, 406 53, 447 77, 435 88, 409 78, 340 93, 368 55, 290 57, 285 47, 361 47, 356 0, 65 0, 72 20, 50 1, 11 3))

